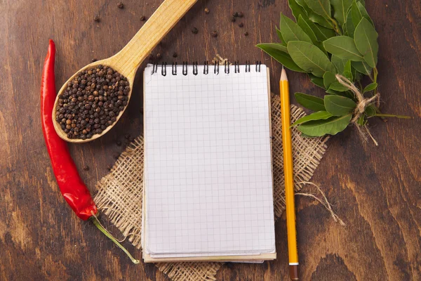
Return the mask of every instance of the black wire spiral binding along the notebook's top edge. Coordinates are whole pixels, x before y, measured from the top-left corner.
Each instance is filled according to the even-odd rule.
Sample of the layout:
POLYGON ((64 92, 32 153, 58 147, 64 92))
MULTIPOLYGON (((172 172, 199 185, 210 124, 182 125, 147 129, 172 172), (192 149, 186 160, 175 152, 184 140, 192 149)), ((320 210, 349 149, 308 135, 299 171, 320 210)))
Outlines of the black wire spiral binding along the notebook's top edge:
MULTIPOLYGON (((192 63, 193 66, 193 71, 192 74, 193 75, 197 75, 199 74, 199 70, 198 70, 198 65, 199 63, 197 61, 192 63)), ((229 60, 225 60, 224 62, 224 72, 226 74, 229 74, 229 60)), ((240 68, 243 68, 244 72, 251 72, 250 71, 250 60, 246 60, 245 65, 243 65, 243 67, 240 67, 240 63, 239 60, 234 61, 234 73, 240 73, 240 68)), ((262 65, 262 62, 260 60, 256 60, 255 62, 255 72, 260 72, 260 66, 262 65)), ((152 74, 155 74, 158 72, 158 63, 154 63, 154 65, 152 65, 152 74)), ((182 62, 182 74, 183 75, 187 75, 188 73, 188 63, 187 62, 182 62)), ((213 63, 213 74, 219 74, 220 72, 220 63, 218 61, 215 61, 215 63, 213 63)), ((162 76, 166 76, 167 74, 167 63, 163 62, 161 63, 161 75, 162 76)), ((173 75, 177 75, 177 63, 172 63, 171 65, 171 74, 173 75)), ((209 61, 205 60, 203 62, 203 74, 209 74, 209 61)))

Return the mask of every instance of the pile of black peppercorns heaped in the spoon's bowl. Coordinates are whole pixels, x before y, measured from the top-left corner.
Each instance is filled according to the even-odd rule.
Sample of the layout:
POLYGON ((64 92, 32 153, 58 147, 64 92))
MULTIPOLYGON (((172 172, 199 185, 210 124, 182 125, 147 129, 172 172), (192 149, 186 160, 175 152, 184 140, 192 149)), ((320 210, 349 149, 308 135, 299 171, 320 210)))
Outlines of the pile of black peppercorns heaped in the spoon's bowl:
POLYGON ((111 67, 98 65, 83 70, 59 96, 55 121, 67 138, 92 138, 116 122, 129 93, 127 78, 111 67))

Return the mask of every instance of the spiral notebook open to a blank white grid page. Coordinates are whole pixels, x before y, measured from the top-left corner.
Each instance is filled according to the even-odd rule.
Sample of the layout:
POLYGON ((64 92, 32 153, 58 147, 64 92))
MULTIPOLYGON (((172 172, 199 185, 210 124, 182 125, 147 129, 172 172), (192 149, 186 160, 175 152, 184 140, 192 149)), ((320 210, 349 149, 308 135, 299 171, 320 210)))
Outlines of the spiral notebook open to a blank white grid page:
POLYGON ((145 262, 276 258, 269 70, 148 65, 145 262))

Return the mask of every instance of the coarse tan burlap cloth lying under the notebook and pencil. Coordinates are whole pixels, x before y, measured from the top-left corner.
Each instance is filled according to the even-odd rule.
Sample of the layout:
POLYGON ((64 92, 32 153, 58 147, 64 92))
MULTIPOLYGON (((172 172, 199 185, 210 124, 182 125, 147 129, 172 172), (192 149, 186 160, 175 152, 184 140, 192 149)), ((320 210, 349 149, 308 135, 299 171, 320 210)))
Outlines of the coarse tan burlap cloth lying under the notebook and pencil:
MULTIPOLYGON (((304 115, 302 109, 291 105, 292 122, 304 115)), ((285 209, 281 130, 279 96, 272 94, 272 157, 276 218, 279 218, 285 209)), ((295 128, 292 136, 295 190, 298 191, 301 190, 302 182, 312 178, 326 151, 328 138, 304 138, 295 128)), ((138 249, 141 247, 142 231, 142 179, 143 137, 138 136, 121 154, 111 172, 98 182, 98 193, 94 198, 99 209, 138 249)), ((208 281, 216 280, 215 275, 222 263, 157 263, 156 266, 174 281, 208 281)))

